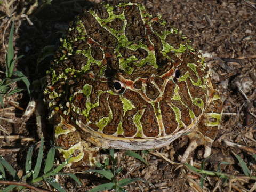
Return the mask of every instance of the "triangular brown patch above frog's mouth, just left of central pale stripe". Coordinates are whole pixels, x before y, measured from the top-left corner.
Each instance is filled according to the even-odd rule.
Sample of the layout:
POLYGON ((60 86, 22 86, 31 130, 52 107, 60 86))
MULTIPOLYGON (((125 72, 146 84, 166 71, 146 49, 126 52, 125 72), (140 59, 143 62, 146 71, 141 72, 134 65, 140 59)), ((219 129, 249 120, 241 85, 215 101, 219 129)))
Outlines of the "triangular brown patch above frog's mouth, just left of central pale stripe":
POLYGON ((159 134, 159 127, 155 116, 154 108, 148 104, 141 119, 143 133, 147 137, 156 137, 159 134))

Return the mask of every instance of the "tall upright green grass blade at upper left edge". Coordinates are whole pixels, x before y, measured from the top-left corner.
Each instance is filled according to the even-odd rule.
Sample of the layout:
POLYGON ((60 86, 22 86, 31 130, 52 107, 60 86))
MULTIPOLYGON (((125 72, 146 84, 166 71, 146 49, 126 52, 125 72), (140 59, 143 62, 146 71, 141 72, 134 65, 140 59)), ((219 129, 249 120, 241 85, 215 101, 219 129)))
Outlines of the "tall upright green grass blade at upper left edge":
POLYGON ((12 62, 13 57, 14 57, 13 31, 14 31, 14 22, 12 22, 12 27, 11 27, 11 31, 10 31, 10 35, 9 35, 9 40, 8 40, 6 77, 11 77, 13 69, 14 69, 14 63, 12 62))

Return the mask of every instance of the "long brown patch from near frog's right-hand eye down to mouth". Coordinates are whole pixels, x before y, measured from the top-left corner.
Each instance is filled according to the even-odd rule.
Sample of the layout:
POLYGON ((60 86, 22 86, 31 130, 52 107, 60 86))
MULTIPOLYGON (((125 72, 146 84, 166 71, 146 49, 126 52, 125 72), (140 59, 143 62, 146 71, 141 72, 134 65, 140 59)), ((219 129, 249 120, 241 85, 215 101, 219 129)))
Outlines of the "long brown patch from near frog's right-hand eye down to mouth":
POLYGON ((174 94, 174 88, 175 84, 168 82, 165 88, 164 97, 162 101, 160 101, 160 109, 166 134, 172 134, 178 126, 178 123, 175 120, 175 113, 170 107, 171 98, 174 94))

